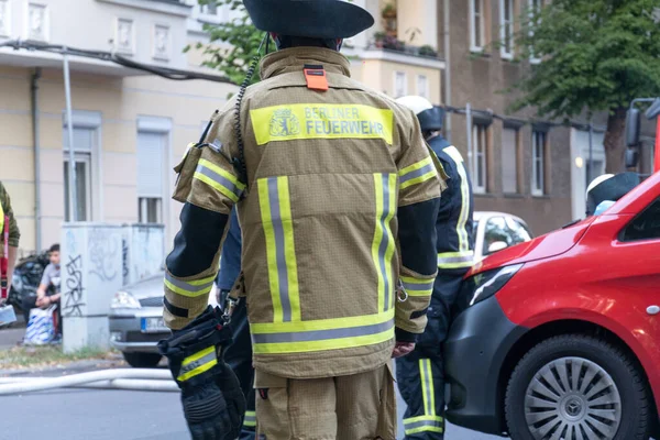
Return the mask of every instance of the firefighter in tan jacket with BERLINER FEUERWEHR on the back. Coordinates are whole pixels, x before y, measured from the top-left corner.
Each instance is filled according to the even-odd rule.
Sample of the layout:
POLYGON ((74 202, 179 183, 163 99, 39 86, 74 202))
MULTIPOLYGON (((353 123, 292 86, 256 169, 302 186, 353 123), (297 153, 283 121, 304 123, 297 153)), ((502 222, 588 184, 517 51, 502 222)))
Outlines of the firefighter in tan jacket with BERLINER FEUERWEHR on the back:
POLYGON ((415 114, 350 78, 339 50, 374 24, 367 11, 341 0, 244 4, 277 52, 176 168, 185 205, 166 258, 174 334, 161 353, 194 437, 239 437, 244 400, 223 360, 231 334, 207 307, 235 205, 257 431, 394 440, 392 358, 411 352, 427 323, 446 175, 415 114))

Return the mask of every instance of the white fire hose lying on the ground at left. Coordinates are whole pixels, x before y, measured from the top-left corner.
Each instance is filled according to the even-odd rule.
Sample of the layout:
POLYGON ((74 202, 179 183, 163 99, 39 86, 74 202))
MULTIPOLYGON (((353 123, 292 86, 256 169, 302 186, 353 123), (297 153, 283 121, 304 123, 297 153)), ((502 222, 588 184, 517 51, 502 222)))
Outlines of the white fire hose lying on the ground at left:
POLYGON ((0 396, 69 387, 179 392, 169 370, 119 369, 61 377, 0 377, 0 396))

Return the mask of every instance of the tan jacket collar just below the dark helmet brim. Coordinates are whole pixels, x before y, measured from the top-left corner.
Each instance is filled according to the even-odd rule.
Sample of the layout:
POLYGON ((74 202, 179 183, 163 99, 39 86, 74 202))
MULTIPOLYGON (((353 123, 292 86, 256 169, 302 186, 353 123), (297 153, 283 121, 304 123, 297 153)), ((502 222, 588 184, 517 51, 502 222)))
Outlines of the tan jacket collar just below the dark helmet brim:
POLYGON ((337 51, 322 47, 292 47, 273 52, 261 62, 261 78, 302 72, 306 64, 321 64, 326 72, 351 76, 349 59, 337 51))

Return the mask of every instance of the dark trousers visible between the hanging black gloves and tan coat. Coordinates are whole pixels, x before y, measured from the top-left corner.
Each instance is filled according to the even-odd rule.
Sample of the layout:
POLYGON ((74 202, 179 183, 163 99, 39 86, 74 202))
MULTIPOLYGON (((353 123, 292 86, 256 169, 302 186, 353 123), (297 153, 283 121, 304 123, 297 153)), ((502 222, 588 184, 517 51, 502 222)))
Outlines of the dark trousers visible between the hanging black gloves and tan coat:
MULTIPOLYGON (((222 293, 220 305, 223 305, 227 293, 222 293)), ((233 342, 224 350, 224 361, 231 366, 241 383, 245 395, 245 419, 239 440, 254 440, 256 428, 254 369, 252 367, 252 339, 248 322, 245 298, 242 298, 231 317, 233 342)))

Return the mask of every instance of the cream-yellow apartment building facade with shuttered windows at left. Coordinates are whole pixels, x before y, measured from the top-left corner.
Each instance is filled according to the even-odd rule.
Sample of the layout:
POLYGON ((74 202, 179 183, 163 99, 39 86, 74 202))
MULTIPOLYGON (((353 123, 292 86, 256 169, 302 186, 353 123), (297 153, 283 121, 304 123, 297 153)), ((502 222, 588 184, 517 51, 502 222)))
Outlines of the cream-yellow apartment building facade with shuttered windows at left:
MULTIPOLYGON (((437 1, 402 2, 394 11, 397 20, 386 1, 356 3, 377 23, 346 42, 353 77, 391 96, 419 94, 441 102, 437 1)), ((58 242, 62 223, 72 219, 63 57, 2 45, 20 38, 114 51, 154 67, 217 75, 199 67, 200 51, 183 50, 208 43, 204 23, 235 14, 196 0, 0 0, 0 180, 12 196, 21 254, 58 242)), ((77 220, 162 223, 172 243, 182 208, 170 199, 173 167, 237 87, 174 81, 75 55, 68 59, 77 220)))

